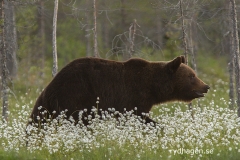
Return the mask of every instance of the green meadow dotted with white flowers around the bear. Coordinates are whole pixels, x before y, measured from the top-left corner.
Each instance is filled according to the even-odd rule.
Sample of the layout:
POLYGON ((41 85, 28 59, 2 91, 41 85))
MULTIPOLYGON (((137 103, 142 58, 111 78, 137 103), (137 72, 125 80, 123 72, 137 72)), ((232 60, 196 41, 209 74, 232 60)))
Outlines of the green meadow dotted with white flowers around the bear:
MULTIPOLYGON (((240 118, 228 108, 227 72, 221 60, 215 61, 199 64, 199 77, 211 86, 206 97, 194 100, 192 110, 180 102, 154 106, 150 116, 159 122, 156 127, 144 124, 134 111, 116 120, 117 112, 110 108, 102 119, 87 116, 89 126, 65 120, 63 112, 58 120, 50 118, 43 127, 26 131, 40 91, 17 92, 10 97, 9 121, 0 121, 0 159, 239 159, 240 118)), ((101 99, 96 108, 98 103, 101 99)))

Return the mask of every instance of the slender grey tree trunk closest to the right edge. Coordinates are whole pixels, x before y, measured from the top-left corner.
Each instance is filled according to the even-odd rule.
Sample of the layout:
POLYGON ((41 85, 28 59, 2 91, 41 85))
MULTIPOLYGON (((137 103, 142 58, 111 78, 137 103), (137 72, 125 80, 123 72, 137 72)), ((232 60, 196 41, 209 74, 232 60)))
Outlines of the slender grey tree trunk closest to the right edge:
POLYGON ((239 65, 239 39, 238 39, 238 26, 235 0, 230 0, 232 5, 232 22, 233 22, 233 52, 235 61, 235 81, 236 81, 236 95, 238 116, 240 117, 240 65, 239 65))

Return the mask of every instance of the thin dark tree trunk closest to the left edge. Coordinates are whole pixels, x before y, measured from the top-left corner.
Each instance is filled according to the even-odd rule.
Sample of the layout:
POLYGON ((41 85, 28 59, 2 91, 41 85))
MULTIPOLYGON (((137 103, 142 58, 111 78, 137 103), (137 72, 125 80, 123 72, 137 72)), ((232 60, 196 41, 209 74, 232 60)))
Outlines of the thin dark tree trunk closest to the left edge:
POLYGON ((8 120, 8 71, 7 71, 7 56, 5 52, 5 15, 4 15, 4 0, 0 1, 0 22, 1 22, 1 32, 0 32, 0 52, 1 52, 1 65, 2 65, 2 118, 3 120, 8 120))

